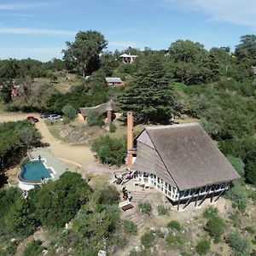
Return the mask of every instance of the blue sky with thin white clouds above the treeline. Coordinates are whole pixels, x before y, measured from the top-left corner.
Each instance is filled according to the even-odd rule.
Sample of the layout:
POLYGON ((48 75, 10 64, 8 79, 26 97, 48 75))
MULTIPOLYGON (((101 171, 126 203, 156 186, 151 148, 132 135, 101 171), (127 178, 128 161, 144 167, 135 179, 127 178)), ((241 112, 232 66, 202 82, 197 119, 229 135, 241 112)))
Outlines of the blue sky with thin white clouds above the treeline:
POLYGON ((61 58, 79 31, 96 30, 108 50, 168 49, 177 39, 206 49, 256 34, 256 0, 0 0, 0 59, 61 58))

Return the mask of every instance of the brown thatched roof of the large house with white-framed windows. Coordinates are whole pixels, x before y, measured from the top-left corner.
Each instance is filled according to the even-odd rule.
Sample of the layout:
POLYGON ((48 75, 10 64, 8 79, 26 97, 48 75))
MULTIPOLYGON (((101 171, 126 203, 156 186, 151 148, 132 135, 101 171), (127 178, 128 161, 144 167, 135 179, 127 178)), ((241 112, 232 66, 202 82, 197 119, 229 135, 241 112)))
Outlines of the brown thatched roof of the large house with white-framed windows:
MULTIPOLYGON (((174 181, 180 190, 230 182, 239 177, 207 132, 197 123, 148 127, 137 137, 137 143, 143 143, 157 152, 167 171, 156 168, 158 177, 166 180, 168 173, 169 180, 174 181)), ((137 166, 142 165, 141 160, 144 165, 154 164, 152 154, 147 157, 148 151, 140 148, 137 148, 137 160, 132 169, 138 169, 137 166)))

